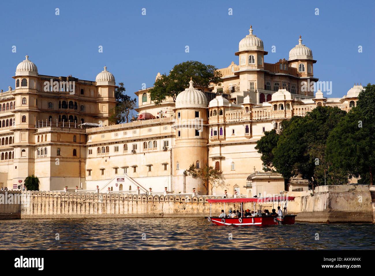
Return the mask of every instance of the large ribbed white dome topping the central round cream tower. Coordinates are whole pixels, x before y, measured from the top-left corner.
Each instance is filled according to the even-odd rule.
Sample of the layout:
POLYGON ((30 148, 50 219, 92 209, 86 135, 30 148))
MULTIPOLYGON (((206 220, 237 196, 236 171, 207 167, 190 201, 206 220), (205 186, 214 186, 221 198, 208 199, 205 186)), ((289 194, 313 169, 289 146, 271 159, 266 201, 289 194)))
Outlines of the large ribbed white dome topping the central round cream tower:
POLYGON ((203 92, 194 89, 193 81, 190 79, 189 88, 177 95, 175 108, 207 107, 207 98, 203 92))

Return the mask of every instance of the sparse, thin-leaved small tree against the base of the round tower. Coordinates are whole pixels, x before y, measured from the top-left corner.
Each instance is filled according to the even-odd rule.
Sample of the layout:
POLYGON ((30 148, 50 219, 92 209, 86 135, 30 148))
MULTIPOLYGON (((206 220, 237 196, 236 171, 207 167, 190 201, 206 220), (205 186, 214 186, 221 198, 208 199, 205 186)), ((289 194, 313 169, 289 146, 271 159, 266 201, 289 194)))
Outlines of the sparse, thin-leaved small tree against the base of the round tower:
POLYGON ((205 164, 202 168, 197 169, 193 163, 190 165, 189 169, 184 171, 184 175, 191 175, 193 178, 201 178, 203 180, 203 186, 207 190, 207 195, 209 183, 211 183, 211 195, 214 187, 227 187, 224 181, 225 178, 223 176, 223 172, 213 168, 212 166, 208 166, 207 164, 205 164))

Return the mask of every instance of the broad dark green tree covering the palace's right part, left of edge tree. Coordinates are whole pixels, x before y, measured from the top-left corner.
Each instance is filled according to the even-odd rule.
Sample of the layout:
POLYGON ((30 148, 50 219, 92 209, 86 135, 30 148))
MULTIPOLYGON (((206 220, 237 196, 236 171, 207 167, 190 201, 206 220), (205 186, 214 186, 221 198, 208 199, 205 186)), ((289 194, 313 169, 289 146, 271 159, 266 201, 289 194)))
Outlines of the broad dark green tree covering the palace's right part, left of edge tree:
POLYGON ((291 120, 282 121, 282 130, 266 132, 258 142, 256 149, 268 170, 285 178, 302 174, 313 185, 347 183, 345 170, 332 168, 326 158, 326 142, 329 132, 345 116, 346 112, 337 107, 317 107, 291 120))

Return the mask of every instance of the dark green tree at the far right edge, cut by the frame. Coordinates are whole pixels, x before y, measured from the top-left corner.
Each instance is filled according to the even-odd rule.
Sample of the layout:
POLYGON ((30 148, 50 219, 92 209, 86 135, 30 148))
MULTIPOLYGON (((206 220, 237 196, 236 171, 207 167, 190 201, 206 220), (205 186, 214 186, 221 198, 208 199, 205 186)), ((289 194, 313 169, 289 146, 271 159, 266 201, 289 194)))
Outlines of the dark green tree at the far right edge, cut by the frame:
POLYGON ((358 97, 357 107, 332 130, 327 139, 327 156, 359 183, 374 184, 375 168, 375 85, 368 84, 358 97))

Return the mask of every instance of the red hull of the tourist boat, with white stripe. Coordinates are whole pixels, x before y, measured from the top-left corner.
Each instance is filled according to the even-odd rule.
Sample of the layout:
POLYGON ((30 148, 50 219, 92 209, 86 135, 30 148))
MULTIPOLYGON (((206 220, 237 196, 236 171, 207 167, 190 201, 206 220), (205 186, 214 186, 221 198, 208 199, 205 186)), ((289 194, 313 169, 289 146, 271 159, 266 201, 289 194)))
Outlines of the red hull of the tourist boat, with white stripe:
POLYGON ((232 225, 232 226, 248 226, 248 225, 279 225, 294 224, 296 215, 285 215, 283 221, 275 221, 274 216, 258 216, 258 217, 207 217, 208 221, 216 225, 232 225))

